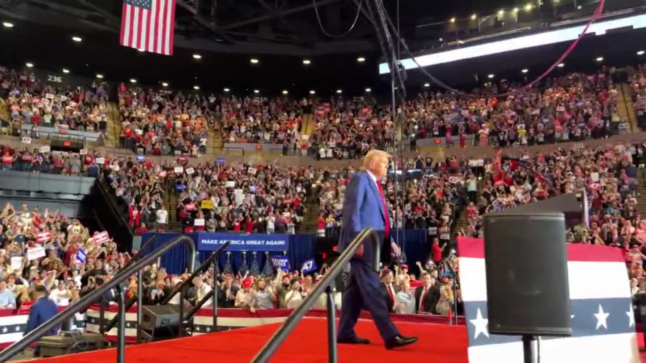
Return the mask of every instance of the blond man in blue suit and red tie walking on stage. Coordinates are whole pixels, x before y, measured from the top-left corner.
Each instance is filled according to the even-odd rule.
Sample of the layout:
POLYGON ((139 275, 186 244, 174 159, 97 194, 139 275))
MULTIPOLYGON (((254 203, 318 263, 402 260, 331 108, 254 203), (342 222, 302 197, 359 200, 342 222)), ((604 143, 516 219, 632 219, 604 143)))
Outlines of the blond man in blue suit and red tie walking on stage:
MULTIPOLYGON (((386 210, 381 178, 388 171, 388 153, 371 150, 364 158, 364 171, 352 176, 343 203, 343 225, 339 236, 339 253, 342 253, 359 232, 372 227, 390 240, 390 221, 386 210)), ((389 245, 390 247, 390 245, 389 245)), ((393 246, 396 250, 396 246, 393 246)), ((341 344, 370 344, 370 340, 357 337, 355 324, 362 308, 370 311, 386 349, 407 346, 417 342, 415 337, 402 337, 388 316, 388 307, 382 296, 379 275, 372 268, 375 253, 370 242, 357 249, 349 264, 349 276, 343 292, 341 320, 337 342, 341 344)), ((395 252, 396 253, 396 252, 395 252)))

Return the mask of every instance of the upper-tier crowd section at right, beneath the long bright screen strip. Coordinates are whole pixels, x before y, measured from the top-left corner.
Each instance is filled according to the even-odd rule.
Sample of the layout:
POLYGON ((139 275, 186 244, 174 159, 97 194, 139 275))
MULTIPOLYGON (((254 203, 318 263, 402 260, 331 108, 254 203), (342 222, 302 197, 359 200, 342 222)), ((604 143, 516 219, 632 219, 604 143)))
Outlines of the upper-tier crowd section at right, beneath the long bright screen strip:
POLYGON ((626 130, 627 120, 617 112, 617 90, 612 73, 574 72, 550 78, 541 87, 521 88, 501 82, 477 90, 482 98, 449 92, 428 92, 406 105, 404 135, 415 138, 453 138, 465 146, 473 134, 477 145, 540 145, 557 141, 603 138, 626 130), (505 94, 488 97, 486 94, 505 94))

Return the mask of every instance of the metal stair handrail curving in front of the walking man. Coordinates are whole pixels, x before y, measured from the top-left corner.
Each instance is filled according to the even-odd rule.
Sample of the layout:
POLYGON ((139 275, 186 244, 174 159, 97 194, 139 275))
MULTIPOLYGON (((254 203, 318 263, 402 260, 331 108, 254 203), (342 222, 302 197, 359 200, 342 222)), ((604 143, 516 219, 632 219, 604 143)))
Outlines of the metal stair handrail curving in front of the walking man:
POLYGON ((324 291, 327 295, 328 300, 328 361, 337 362, 337 319, 336 319, 336 307, 334 303, 334 296, 331 284, 337 278, 337 275, 342 272, 344 267, 348 264, 350 259, 355 255, 355 252, 360 245, 363 244, 366 237, 370 236, 373 244, 373 259, 372 265, 375 272, 379 271, 379 259, 380 259, 380 245, 383 241, 379 239, 379 235, 372 228, 363 229, 351 244, 348 245, 345 251, 339 256, 337 261, 332 264, 328 273, 321 282, 314 288, 314 290, 303 300, 302 304, 295 309, 291 315, 287 318, 285 323, 274 333, 274 335, 269 339, 269 342, 265 344, 256 357, 251 360, 254 363, 269 362, 269 358, 278 350, 280 344, 284 342, 289 334, 297 326, 298 322, 307 314, 307 311, 311 309, 318 300, 324 291))

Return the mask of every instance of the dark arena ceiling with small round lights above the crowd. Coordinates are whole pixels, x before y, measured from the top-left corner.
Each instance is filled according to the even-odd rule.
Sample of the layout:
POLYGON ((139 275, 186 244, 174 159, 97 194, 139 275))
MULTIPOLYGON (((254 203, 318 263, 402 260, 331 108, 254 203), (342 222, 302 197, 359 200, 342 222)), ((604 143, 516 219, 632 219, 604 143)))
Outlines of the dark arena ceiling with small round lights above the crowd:
MULTIPOLYGON (((101 73, 112 80, 136 78, 143 84, 168 82, 178 88, 200 85, 213 91, 229 87, 249 92, 258 88, 267 92, 289 89, 306 94, 307 90, 316 89, 325 94, 342 88, 344 94, 356 95, 366 87, 388 89, 386 79, 377 76, 379 42, 366 10, 366 2, 371 0, 177 1, 174 56, 167 57, 118 45, 120 0, 0 0, 0 18, 15 25, 0 28, 0 41, 5 49, 0 62, 14 67, 32 62, 50 69, 65 67, 86 77, 101 73), (344 34, 350 28, 346 36, 329 36, 344 34), (72 41, 72 37, 83 40, 72 41), (195 59, 196 54, 200 59, 195 59), (360 57, 365 61, 357 61, 360 57), (251 64, 251 58, 259 62, 251 64), (305 59, 310 63, 304 64, 305 59)), ((422 52, 485 32, 479 29, 469 34, 468 29, 465 32, 453 28, 453 23, 466 21, 475 14, 479 14, 480 20, 499 10, 511 12, 527 1, 536 3, 384 0, 384 5, 393 22, 399 19, 401 36, 413 52, 422 52)), ((642 2, 624 1, 621 6, 642 2)), ((578 3, 586 5, 585 1, 578 3)), ((574 11, 572 1, 560 0, 559 4, 563 14, 568 9, 574 11)), ((586 11, 592 10, 583 8, 581 16, 586 11)), ((524 12, 523 16, 526 21, 540 18, 538 9, 524 12)), ((494 24, 488 32, 505 30, 505 26, 514 25, 494 24)), ((643 34, 640 35, 643 39, 643 34)), ((605 36, 603 43, 597 39, 582 41, 572 57, 580 57, 583 63, 594 66, 590 57, 603 47, 603 52, 616 54, 614 58, 607 57, 608 61, 616 59, 619 63, 619 56, 634 56, 639 38, 605 36)), ((521 52, 525 56, 515 55, 506 61, 488 57, 432 69, 455 83, 478 81, 477 74, 489 72, 515 74, 521 68, 532 69, 526 75, 530 76, 565 48, 567 45, 557 45, 538 53, 521 52)), ((422 87, 426 81, 417 72, 410 72, 412 87, 422 87)))

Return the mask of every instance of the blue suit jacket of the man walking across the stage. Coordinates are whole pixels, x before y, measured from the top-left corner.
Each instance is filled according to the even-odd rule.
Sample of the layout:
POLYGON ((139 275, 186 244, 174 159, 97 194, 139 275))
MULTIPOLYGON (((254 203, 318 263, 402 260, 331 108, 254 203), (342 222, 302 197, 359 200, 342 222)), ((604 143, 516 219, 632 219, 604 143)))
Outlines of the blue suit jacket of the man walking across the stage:
MULTIPOLYGON (((343 202, 343 225, 339 235, 339 253, 343 253, 359 232, 372 227, 380 234, 383 240, 386 227, 384 202, 377 189, 377 183, 366 171, 356 172, 346 189, 346 198, 343 202)), ((360 260, 367 264, 372 263, 374 254, 370 240, 364 241, 364 254, 356 256, 353 260, 360 260)))

